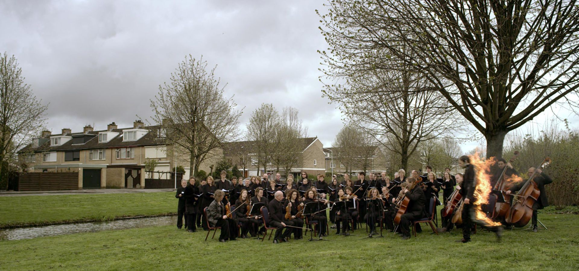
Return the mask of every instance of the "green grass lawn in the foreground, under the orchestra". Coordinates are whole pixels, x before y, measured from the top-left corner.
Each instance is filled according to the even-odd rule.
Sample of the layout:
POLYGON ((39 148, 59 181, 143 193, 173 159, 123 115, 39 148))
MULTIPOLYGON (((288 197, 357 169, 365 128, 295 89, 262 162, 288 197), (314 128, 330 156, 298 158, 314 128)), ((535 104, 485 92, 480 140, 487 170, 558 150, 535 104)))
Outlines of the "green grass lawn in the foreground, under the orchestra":
POLYGON ((437 236, 427 227, 409 240, 391 234, 360 240, 366 236, 362 228, 350 237, 335 236, 331 229, 331 242, 282 244, 254 239, 205 242, 204 231, 188 233, 171 226, 80 233, 2 241, 0 269, 578 270, 579 216, 540 214, 539 219, 547 231, 505 231, 502 243, 481 231, 470 243, 456 243, 460 231, 437 236))

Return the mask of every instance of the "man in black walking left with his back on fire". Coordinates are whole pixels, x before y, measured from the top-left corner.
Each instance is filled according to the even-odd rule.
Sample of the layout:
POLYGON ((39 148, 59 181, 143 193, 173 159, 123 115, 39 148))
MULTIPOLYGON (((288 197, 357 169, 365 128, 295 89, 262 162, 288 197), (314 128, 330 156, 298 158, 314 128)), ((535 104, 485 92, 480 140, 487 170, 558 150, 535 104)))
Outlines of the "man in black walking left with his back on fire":
POLYGON ((501 239, 503 227, 500 223, 490 220, 481 209, 481 205, 489 203, 492 187, 490 187, 488 169, 493 163, 492 159, 483 161, 478 154, 470 157, 463 155, 459 158, 459 165, 464 168, 464 180, 460 190, 460 195, 464 198, 463 211, 461 213, 463 239, 459 240, 459 242, 470 242, 473 222, 496 233, 497 240, 500 241, 501 239), (476 174, 475 168, 477 169, 476 174))

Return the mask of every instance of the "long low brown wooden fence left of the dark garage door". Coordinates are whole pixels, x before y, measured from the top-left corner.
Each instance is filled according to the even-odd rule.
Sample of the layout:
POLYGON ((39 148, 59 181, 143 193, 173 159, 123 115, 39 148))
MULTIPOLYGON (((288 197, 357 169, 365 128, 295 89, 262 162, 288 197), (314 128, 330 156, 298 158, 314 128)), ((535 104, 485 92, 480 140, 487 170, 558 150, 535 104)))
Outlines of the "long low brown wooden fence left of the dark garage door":
POLYGON ((33 172, 19 177, 19 191, 78 190, 78 172, 33 172))

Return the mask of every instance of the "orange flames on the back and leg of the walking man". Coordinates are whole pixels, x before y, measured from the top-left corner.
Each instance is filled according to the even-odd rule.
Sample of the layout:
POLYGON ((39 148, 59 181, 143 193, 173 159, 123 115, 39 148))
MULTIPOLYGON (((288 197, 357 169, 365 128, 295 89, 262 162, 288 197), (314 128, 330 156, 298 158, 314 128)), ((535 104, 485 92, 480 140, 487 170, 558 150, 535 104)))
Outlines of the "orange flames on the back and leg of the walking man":
POLYGON ((470 164, 474 166, 475 183, 474 196, 477 199, 474 202, 475 216, 478 221, 484 222, 488 226, 499 226, 498 222, 490 220, 486 213, 482 211, 481 205, 489 203, 489 195, 493 188, 490 187, 490 167, 494 165, 494 157, 490 159, 482 159, 478 151, 474 155, 470 155, 470 164))

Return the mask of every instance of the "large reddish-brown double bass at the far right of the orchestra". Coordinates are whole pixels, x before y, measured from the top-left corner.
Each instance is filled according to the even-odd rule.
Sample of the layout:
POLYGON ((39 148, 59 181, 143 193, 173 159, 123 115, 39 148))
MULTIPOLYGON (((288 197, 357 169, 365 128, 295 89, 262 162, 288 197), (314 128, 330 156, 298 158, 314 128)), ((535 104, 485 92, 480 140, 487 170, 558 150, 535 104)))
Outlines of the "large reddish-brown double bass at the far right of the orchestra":
MULTIPOLYGON (((545 166, 551 164, 550 158, 545 158, 537 169, 544 169, 545 166)), ((525 227, 533 216, 533 205, 537 202, 541 191, 535 183, 534 178, 537 176, 537 171, 529 177, 525 185, 519 190, 516 195, 513 195, 511 209, 508 216, 505 218, 507 223, 514 225, 517 228, 525 227)))

